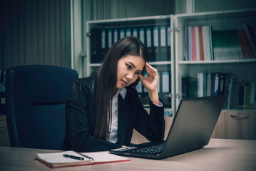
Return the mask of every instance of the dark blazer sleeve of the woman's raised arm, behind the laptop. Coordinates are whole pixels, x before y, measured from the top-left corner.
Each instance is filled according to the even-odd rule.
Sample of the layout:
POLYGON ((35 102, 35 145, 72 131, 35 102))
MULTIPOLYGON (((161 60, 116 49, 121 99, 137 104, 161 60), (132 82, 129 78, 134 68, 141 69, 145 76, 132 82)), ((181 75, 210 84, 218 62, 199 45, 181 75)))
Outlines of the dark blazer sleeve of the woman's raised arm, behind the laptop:
MULTIPOLYGON (((150 101, 150 114, 148 114, 141 101, 139 99, 137 101, 135 130, 150 141, 163 141, 165 136, 164 104, 160 107, 150 101)), ((161 99, 160 101, 163 103, 161 99)))

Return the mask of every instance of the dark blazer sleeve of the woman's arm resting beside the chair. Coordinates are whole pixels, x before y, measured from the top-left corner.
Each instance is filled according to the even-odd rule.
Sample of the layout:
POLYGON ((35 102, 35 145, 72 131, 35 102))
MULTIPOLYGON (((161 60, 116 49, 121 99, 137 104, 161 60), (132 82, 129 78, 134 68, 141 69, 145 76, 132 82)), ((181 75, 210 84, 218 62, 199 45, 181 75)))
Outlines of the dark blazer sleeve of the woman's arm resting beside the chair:
POLYGON ((122 147, 93 136, 95 121, 92 100, 91 81, 75 81, 66 103, 66 131, 71 149, 88 152, 122 147))

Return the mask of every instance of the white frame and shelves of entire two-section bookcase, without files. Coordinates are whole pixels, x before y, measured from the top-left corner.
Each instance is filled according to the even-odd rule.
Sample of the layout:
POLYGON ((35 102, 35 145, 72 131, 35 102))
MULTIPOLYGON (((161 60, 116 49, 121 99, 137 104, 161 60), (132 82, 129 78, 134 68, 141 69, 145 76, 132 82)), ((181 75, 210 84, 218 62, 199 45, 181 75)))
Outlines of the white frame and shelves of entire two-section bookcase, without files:
MULTIPOLYGON (((231 73, 238 81, 256 81, 256 58, 183 61, 184 26, 211 26, 212 31, 244 29, 243 24, 255 26, 256 9, 214 11, 196 14, 177 14, 167 16, 148 16, 127 19, 87 21, 87 73, 96 71, 101 63, 91 63, 91 28, 132 28, 146 26, 170 26, 170 61, 150 61, 158 71, 170 71, 170 107, 166 115, 173 115, 182 98, 182 78, 196 78, 198 73, 231 73)), ((144 42, 145 43, 145 42, 144 42)), ((147 107, 145 105, 145 107, 147 107)), ((255 110, 255 109, 254 109, 255 110)), ((244 110, 245 111, 245 110, 244 110)))

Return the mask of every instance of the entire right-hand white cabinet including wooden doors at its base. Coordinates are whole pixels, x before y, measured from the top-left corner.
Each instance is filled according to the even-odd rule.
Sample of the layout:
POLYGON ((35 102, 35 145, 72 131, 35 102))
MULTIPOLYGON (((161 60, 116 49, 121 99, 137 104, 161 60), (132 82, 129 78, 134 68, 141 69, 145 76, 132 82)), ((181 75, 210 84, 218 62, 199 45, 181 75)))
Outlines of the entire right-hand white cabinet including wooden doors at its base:
MULTIPOLYGON (((233 37, 227 36, 225 38, 225 34, 223 34, 223 37, 219 38, 222 41, 220 42, 222 49, 220 49, 221 51, 213 51, 213 58, 210 60, 207 58, 198 60, 199 58, 193 58, 192 54, 191 60, 191 58, 188 58, 188 56, 193 53, 193 46, 189 43, 192 42, 189 38, 192 39, 193 37, 191 36, 191 32, 193 29, 199 30, 199 26, 210 26, 212 36, 215 36, 215 33, 221 32, 234 33, 237 30, 245 29, 244 24, 256 26, 255 21, 256 9, 175 15, 176 108, 178 107, 181 98, 186 95, 193 95, 193 93, 188 93, 188 86, 184 86, 186 82, 188 83, 188 81, 190 81, 192 90, 193 86, 194 88, 196 87, 195 89, 198 88, 198 84, 200 84, 200 81, 198 81, 200 79, 200 74, 198 75, 198 73, 213 73, 212 76, 215 76, 216 73, 224 73, 225 78, 227 79, 224 84, 225 88, 227 88, 227 90, 224 91, 224 94, 227 95, 227 100, 225 102, 224 110, 220 113, 220 118, 217 121, 212 138, 255 140, 256 107, 255 99, 250 99, 250 93, 252 92, 250 86, 256 81, 256 58, 255 53, 253 53, 252 56, 248 56, 248 54, 241 56, 239 50, 232 49, 233 47, 229 46, 230 40, 231 42, 234 41, 233 37), (188 33, 190 33, 190 36, 188 33), (192 52, 189 51, 189 49, 192 49, 192 52), (217 56, 222 56, 222 58, 215 58, 217 56), (232 87, 231 94, 230 83, 232 79, 234 80, 236 88, 235 86, 232 87), (249 98, 245 98, 247 95, 245 89, 241 89, 242 84, 249 85, 249 90, 247 92, 249 98), (240 88, 238 88, 238 86, 240 86, 240 88), (242 91, 244 93, 242 93, 242 91), (249 102, 246 102, 246 99, 249 102), (253 104, 250 104, 250 100, 253 104)), ((196 33, 196 30, 194 31, 196 33)), ((214 37, 211 38, 212 40, 214 39, 214 37)), ((196 41, 197 40, 195 40, 195 42, 196 41)), ((215 41, 212 41, 212 43, 213 42, 215 41)), ((205 44, 203 44, 203 46, 205 46, 205 44)), ((212 48, 217 49, 216 42, 215 44, 212 44, 212 48)), ((198 52, 196 48, 194 52, 198 52)), ((203 75, 203 82, 206 82, 206 85, 204 84, 204 90, 207 89, 208 85, 207 76, 207 74, 203 75)), ((203 88, 203 86, 200 88, 203 88)), ((198 90, 198 92, 199 91, 200 90, 198 90)), ((200 95, 198 92, 195 93, 195 96, 200 95)), ((206 92, 206 94, 203 96, 207 95, 207 90, 204 92, 206 92)))

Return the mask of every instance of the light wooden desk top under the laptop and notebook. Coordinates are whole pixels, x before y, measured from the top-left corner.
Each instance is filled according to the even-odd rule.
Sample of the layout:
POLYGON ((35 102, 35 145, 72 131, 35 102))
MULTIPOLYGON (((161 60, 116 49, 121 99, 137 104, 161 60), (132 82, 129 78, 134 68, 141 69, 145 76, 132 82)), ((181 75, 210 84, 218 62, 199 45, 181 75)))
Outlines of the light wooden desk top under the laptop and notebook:
MULTIPOLYGON (((57 152, 19 147, 0 147, 0 170, 51 170, 34 160, 36 152, 57 152)), ((163 160, 128 157, 130 162, 65 167, 54 170, 255 170, 256 141, 211 139, 200 150, 163 160)))

